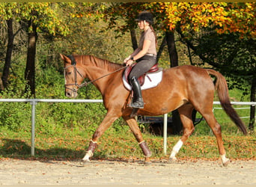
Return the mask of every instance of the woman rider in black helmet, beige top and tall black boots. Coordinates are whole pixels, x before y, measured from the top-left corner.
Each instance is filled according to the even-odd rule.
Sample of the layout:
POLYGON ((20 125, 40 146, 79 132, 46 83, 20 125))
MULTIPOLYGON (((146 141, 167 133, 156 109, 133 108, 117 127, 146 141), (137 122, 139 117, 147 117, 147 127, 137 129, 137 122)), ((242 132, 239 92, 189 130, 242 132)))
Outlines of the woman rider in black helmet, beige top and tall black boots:
POLYGON ((132 52, 129 57, 124 59, 124 63, 130 66, 134 61, 138 63, 129 73, 129 83, 132 85, 134 97, 132 99, 132 108, 144 108, 144 102, 141 96, 141 86, 138 83, 138 77, 147 73, 154 64, 156 64, 156 33, 153 30, 153 14, 143 11, 138 14, 138 26, 141 30, 141 37, 138 42, 138 48, 132 52))

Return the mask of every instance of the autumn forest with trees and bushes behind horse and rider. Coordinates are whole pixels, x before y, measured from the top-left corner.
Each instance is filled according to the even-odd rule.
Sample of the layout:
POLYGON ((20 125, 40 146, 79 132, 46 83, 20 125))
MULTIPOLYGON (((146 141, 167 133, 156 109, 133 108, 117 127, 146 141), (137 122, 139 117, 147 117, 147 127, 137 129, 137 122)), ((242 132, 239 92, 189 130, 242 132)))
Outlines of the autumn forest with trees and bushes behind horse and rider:
MULTIPOLYGON (((138 45, 141 31, 135 18, 141 10, 150 10, 155 16, 160 67, 192 64, 213 68, 226 77, 234 93, 232 100, 255 102, 254 2, 0 3, 1 98, 66 99, 59 54, 95 55, 121 64, 138 45)), ((79 99, 101 96, 88 85, 79 90, 79 99)), ((30 107, 1 103, 1 135, 29 132, 30 107)), ((91 136, 105 113, 102 104, 40 103, 37 134, 82 129, 91 136)), ((245 123, 253 134, 255 106, 248 114, 245 123)), ((228 126, 224 127, 227 132, 237 132, 230 129, 227 119, 221 123, 228 126)), ((112 130, 124 131, 124 126, 118 120, 112 130)), ((182 129, 176 131, 180 134, 182 129)))

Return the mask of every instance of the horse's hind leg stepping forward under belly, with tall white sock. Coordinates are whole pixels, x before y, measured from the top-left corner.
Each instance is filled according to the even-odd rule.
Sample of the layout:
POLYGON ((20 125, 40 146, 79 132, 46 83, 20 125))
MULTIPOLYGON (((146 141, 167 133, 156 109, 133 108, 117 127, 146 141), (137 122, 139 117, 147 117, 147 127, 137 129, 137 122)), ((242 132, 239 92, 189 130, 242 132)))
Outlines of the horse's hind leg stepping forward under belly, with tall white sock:
POLYGON ((195 128, 192 122, 192 110, 193 106, 190 103, 187 103, 186 105, 183 105, 180 108, 178 108, 178 111, 180 113, 180 120, 183 123, 183 136, 172 148, 171 156, 169 158, 170 161, 176 160, 176 154, 179 152, 183 143, 189 138, 189 135, 191 135, 192 132, 194 132, 195 128))

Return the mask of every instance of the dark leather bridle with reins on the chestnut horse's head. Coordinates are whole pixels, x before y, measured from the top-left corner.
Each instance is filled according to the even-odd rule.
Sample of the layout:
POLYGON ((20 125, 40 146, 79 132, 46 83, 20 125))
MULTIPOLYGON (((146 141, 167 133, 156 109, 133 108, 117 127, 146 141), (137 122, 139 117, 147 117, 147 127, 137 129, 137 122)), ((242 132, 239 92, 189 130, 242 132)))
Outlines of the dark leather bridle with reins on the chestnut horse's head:
POLYGON ((82 76, 82 73, 80 73, 79 70, 77 70, 77 68, 76 68, 76 60, 75 60, 75 58, 73 57, 73 55, 68 55, 67 57, 70 58, 70 60, 71 60, 71 65, 69 65, 68 67, 72 67, 72 66, 73 66, 75 83, 66 84, 66 69, 67 69, 68 67, 64 67, 64 79, 65 79, 65 85, 64 85, 64 86, 65 86, 66 89, 69 89, 69 90, 71 90, 71 91, 73 91, 73 92, 77 92, 79 88, 82 88, 82 87, 84 87, 84 86, 87 86, 87 85, 89 85, 89 84, 91 84, 91 83, 93 83, 93 82, 96 82, 96 81, 99 80, 99 79, 102 79, 102 78, 105 77, 105 76, 109 76, 109 75, 111 75, 112 73, 118 72, 119 70, 123 70, 124 68, 126 68, 126 67, 121 67, 121 68, 119 68, 118 70, 113 71, 112 73, 109 73, 109 74, 106 74, 106 75, 104 75, 104 76, 101 76, 101 77, 99 77, 99 78, 97 78, 97 79, 94 79, 94 80, 92 80, 92 81, 90 81, 90 82, 84 81, 81 85, 79 85, 79 84, 77 83, 77 79, 76 79, 77 76, 76 76, 76 73, 78 73, 79 76, 82 77, 82 79, 85 79, 85 77, 82 76), (68 86, 76 86, 76 88, 68 88, 68 86))

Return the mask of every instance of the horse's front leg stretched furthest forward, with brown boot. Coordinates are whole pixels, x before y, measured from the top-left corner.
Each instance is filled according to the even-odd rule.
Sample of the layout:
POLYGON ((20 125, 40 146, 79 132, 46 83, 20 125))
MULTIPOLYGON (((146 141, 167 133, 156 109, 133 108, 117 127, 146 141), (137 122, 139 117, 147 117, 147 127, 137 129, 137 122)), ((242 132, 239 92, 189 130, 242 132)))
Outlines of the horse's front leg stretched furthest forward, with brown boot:
POLYGON ((106 117, 103 119, 102 123, 100 123, 100 126, 94 132, 85 157, 82 159, 83 162, 90 162, 90 157, 94 155, 94 151, 97 147, 97 141, 99 140, 100 136, 103 135, 106 129, 109 129, 109 126, 111 126, 116 119, 118 119, 118 117, 113 113, 108 112, 106 114, 106 117))

